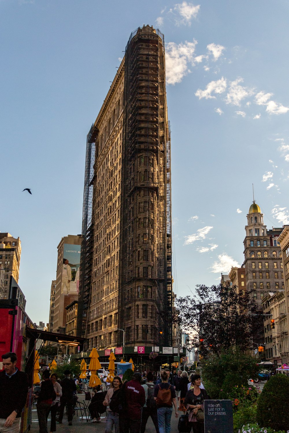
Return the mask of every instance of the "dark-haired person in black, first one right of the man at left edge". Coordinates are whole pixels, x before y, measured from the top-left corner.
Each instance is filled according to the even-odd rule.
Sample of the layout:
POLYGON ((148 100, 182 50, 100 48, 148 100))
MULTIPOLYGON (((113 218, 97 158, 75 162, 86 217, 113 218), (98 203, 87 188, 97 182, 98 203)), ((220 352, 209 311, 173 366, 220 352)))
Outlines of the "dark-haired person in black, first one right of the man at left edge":
POLYGON ((52 402, 56 398, 56 393, 52 381, 50 380, 49 370, 44 370, 42 373, 42 379, 43 381, 41 382, 41 388, 37 397, 36 409, 39 422, 39 433, 48 433, 47 418, 51 410, 52 402))

